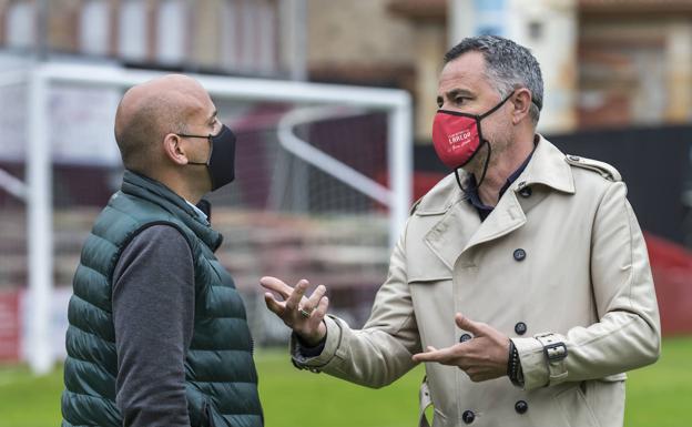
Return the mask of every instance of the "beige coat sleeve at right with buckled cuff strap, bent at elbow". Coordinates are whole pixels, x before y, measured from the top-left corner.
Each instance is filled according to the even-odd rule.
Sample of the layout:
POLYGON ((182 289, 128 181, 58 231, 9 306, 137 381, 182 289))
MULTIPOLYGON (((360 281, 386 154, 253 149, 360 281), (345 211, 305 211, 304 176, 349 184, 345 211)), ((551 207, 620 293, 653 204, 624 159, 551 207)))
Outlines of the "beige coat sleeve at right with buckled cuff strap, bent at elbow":
POLYGON ((649 256, 622 182, 608 187, 596 213, 591 282, 598 323, 573 327, 564 336, 512 339, 526 389, 620 374, 652 364, 660 355, 649 256))

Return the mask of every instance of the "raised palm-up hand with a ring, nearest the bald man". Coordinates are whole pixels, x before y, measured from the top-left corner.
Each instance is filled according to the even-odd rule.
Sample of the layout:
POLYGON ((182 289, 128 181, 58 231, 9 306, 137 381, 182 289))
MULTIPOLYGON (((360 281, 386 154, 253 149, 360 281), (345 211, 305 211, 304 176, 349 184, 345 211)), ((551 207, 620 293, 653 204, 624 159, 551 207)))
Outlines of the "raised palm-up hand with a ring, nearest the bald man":
POLYGON ((329 299, 325 296, 326 287, 317 286, 307 298, 304 295, 309 282, 306 279, 291 287, 276 277, 266 276, 260 279, 260 284, 271 291, 264 294, 267 308, 298 334, 305 344, 316 345, 322 340, 327 333, 327 327, 322 322, 329 306, 329 299), (276 299, 272 292, 281 295, 284 301, 276 299))

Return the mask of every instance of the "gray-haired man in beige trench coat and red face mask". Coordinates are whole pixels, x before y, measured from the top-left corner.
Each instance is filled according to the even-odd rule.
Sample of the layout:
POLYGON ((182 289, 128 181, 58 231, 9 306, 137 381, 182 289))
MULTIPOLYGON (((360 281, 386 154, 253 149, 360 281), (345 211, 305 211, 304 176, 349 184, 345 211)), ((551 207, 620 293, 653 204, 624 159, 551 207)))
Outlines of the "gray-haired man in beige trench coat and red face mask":
POLYGON ((536 133, 542 100, 510 40, 446 54, 432 142, 454 173, 411 210, 363 329, 323 285, 262 279, 296 366, 381 387, 423 362, 421 426, 429 405, 434 426, 622 426, 624 373, 660 354, 647 247, 618 171, 536 133))

